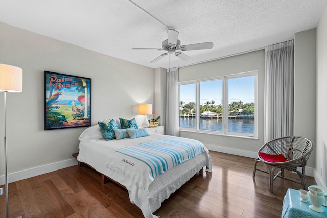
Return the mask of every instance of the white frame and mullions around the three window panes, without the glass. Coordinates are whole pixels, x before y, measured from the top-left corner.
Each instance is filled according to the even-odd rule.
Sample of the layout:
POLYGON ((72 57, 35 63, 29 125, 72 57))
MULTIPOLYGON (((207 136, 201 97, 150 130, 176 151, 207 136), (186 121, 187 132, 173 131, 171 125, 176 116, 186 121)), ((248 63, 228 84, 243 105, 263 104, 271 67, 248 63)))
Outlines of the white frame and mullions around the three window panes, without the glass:
MULTIPOLYGON (((180 86, 195 84, 195 104, 196 104, 196 125, 195 128, 179 127, 180 131, 198 132, 204 134, 224 135, 233 137, 246 137, 246 138, 258 138, 258 70, 241 72, 238 74, 231 74, 225 76, 217 76, 212 78, 202 78, 197 80, 183 81, 178 83, 178 101, 180 102, 180 86), (228 80, 242 77, 254 76, 254 133, 240 133, 228 131, 228 80), (222 98, 223 98, 223 129, 222 131, 203 130, 200 129, 200 82, 222 80, 222 98)), ((179 111, 179 104, 178 104, 179 111)))

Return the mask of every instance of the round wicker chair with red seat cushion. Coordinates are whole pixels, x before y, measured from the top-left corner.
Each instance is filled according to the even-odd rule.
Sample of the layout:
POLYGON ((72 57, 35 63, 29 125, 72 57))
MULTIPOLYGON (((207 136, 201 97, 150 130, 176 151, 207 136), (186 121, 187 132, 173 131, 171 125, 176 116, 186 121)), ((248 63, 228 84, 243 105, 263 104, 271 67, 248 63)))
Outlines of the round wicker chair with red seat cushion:
POLYGON ((302 189, 307 189, 305 167, 312 150, 312 141, 300 136, 287 136, 271 140, 258 151, 258 158, 255 159, 254 163, 253 178, 257 170, 268 173, 270 192, 273 192, 273 182, 277 177, 302 184, 302 189), (256 168, 258 162, 262 162, 268 168, 268 171, 256 168), (302 173, 297 170, 297 167, 302 167, 302 173), (277 168, 280 171, 275 174, 277 168), (301 182, 284 177, 284 169, 296 172, 301 182))

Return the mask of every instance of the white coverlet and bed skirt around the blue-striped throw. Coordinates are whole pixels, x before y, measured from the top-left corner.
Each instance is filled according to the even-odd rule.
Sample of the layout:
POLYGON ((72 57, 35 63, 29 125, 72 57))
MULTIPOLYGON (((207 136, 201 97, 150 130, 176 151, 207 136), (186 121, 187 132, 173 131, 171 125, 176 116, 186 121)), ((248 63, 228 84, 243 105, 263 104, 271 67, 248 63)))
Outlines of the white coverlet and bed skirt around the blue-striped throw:
MULTIPOLYGON (((112 165, 113 158, 117 156, 115 149, 127 146, 133 146, 142 142, 165 138, 165 135, 151 134, 141 138, 125 138, 121 140, 97 140, 94 142, 80 142, 79 155, 77 160, 87 163, 98 172, 110 177, 111 179, 124 185, 129 193, 130 201, 136 204, 143 212, 145 217, 157 217, 152 213, 156 211, 161 203, 167 199, 171 193, 180 188, 186 181, 192 178, 196 172, 206 166, 207 171, 212 169, 212 161, 205 150, 190 160, 170 168, 165 173, 158 175, 149 185, 135 182, 135 175, 124 173, 124 167, 128 163, 121 162, 121 168, 118 165, 112 165)), ((121 161, 121 157, 119 157, 121 161)), ((134 162, 133 160, 132 162, 134 162)))

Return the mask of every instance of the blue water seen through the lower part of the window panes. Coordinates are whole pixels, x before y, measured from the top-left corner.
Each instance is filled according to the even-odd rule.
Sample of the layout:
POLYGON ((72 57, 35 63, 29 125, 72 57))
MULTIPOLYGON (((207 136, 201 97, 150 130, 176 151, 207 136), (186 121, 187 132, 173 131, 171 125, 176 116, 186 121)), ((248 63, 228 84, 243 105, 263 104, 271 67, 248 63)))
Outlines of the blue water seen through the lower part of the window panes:
MULTIPOLYGON (((195 128, 195 118, 180 117, 179 127, 195 128)), ((222 131, 222 119, 200 119, 201 130, 222 131)), ((228 119, 228 131, 254 134, 254 119, 228 119)))

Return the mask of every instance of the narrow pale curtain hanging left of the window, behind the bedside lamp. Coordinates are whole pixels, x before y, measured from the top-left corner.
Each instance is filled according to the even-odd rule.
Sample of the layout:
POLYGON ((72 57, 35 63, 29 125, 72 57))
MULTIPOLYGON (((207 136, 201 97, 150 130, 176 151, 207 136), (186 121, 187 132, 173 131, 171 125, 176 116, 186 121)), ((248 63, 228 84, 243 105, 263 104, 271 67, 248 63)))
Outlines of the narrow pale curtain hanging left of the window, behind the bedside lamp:
POLYGON ((166 135, 178 136, 178 69, 167 70, 166 135))

